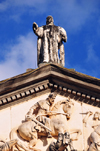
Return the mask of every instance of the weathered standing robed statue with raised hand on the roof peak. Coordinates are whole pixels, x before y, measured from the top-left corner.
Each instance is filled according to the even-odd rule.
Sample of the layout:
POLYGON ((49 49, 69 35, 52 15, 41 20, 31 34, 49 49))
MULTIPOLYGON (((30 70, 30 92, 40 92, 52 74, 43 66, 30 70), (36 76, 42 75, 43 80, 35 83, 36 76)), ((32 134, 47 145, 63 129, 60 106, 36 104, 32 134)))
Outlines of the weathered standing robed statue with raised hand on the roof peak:
POLYGON ((38 36, 38 66, 40 63, 58 63, 64 66, 65 52, 63 41, 67 41, 66 31, 62 27, 54 25, 52 16, 48 16, 46 18, 46 25, 44 26, 38 27, 34 22, 33 31, 38 36))

